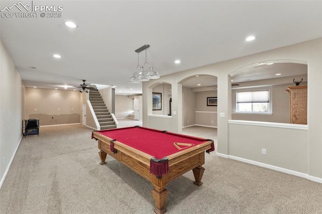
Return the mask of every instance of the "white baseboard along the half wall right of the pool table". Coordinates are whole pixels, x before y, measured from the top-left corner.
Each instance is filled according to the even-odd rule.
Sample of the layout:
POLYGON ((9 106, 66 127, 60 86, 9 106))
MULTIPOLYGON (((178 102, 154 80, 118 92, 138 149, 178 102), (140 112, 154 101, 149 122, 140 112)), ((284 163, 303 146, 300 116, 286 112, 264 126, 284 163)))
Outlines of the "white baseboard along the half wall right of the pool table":
POLYGON ((237 160, 237 161, 241 161, 241 162, 261 166, 261 167, 268 168, 268 169, 273 169, 273 170, 276 170, 276 171, 279 171, 279 172, 284 172, 284 173, 287 173, 287 174, 291 174, 291 175, 295 175, 295 176, 298 176, 298 177, 306 178, 306 179, 311 180, 311 181, 322 183, 322 178, 314 177, 314 176, 311 176, 311 175, 308 175, 308 174, 305 174, 305 173, 302 173, 302 172, 297 172, 297 171, 293 171, 293 170, 290 170, 290 169, 285 169, 285 168, 281 168, 281 167, 278 167, 278 166, 273 166, 273 165, 269 165, 269 164, 266 164, 266 163, 261 163, 261 162, 257 162, 257 161, 253 161, 253 160, 249 160, 249 159, 245 159, 245 158, 240 158, 240 157, 236 157, 236 156, 232 156, 232 155, 225 155, 225 154, 217 153, 217 156, 223 157, 223 158, 230 158, 230 159, 233 159, 233 160, 237 160))

